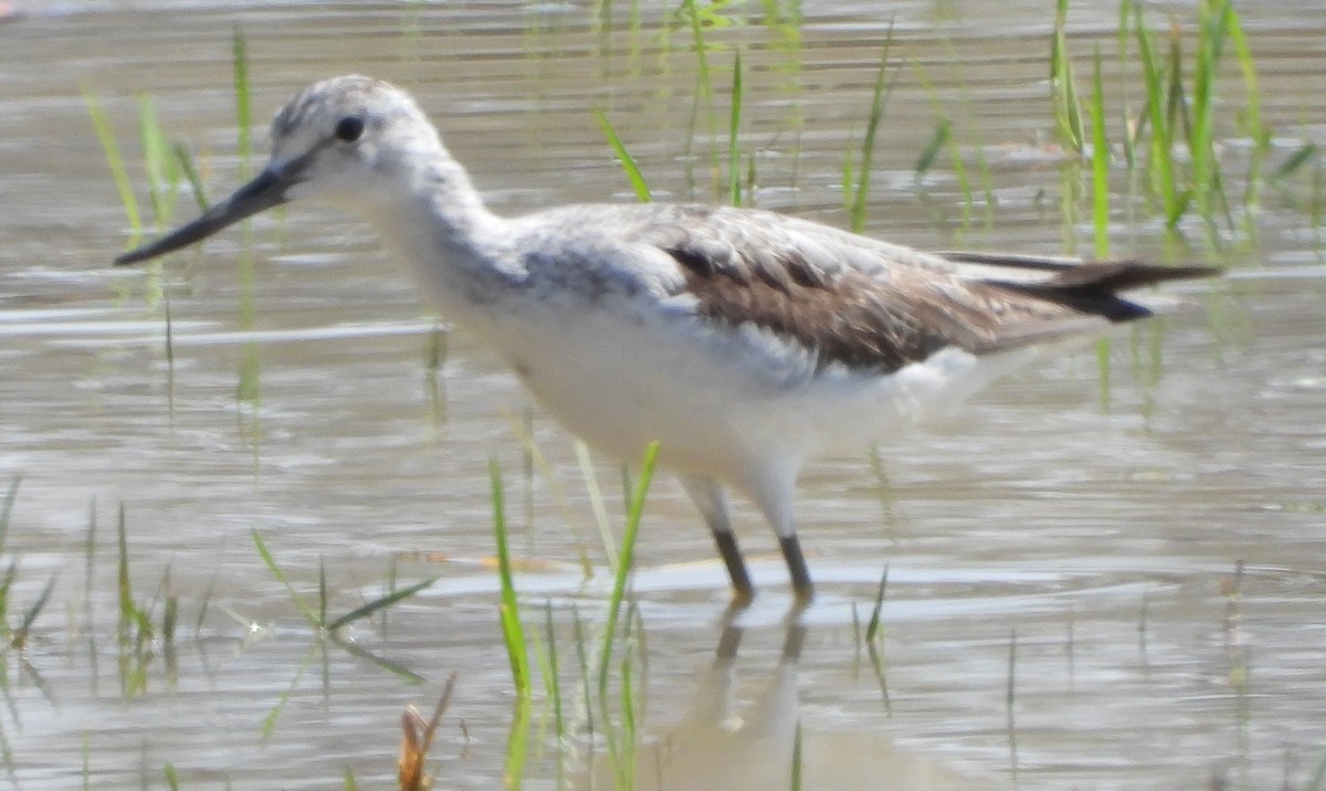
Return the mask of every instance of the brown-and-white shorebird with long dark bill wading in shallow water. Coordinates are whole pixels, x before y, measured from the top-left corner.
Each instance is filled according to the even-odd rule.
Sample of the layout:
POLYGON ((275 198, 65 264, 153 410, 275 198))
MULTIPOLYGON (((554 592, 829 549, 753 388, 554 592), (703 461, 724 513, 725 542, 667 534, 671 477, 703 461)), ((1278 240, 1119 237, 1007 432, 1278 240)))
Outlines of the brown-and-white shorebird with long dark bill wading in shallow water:
POLYGON ((814 587, 793 493, 812 457, 863 450, 1048 348, 1150 315, 1119 290, 1197 266, 932 254, 768 211, 564 205, 500 217, 403 90, 362 76, 300 91, 265 170, 127 252, 134 264, 263 209, 317 200, 369 220, 456 327, 590 447, 652 441, 727 567, 754 592, 728 490, 777 533, 798 602, 814 587))

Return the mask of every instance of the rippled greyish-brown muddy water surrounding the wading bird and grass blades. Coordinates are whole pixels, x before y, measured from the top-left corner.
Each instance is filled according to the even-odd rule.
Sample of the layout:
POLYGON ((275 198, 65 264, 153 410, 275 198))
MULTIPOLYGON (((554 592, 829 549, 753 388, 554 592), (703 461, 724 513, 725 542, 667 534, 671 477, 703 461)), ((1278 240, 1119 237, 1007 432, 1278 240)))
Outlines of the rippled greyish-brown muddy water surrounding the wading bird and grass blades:
MULTIPOLYGON (((558 4, 8 5, 0 485, 21 476, 4 546, 17 568, 11 628, 54 588, 27 647, 5 653, 0 776, 163 787, 171 766, 188 788, 326 788, 349 768, 361 787, 387 787, 404 706, 431 706, 456 672, 439 787, 496 787, 513 698, 487 564, 496 458, 516 550, 541 560, 517 576, 526 621, 542 635, 548 603, 574 731, 558 770, 536 681, 528 784, 609 787, 602 730, 589 734, 570 692, 575 620, 597 633, 607 587, 570 439, 533 411, 550 472, 524 474, 525 396, 491 355, 447 335, 345 217, 257 220, 251 295, 241 232, 164 273, 111 272, 127 224, 80 90, 101 98, 139 188, 137 101, 150 94, 219 196, 241 179, 239 25, 256 117, 317 77, 390 78, 416 93, 501 212, 631 199, 595 107, 656 196, 712 200, 721 176, 703 109, 691 121, 686 30, 664 34, 672 17, 652 5, 638 21, 615 11, 606 36, 587 8, 558 4), (159 628, 139 649, 118 640, 121 509, 133 598, 158 627, 163 599, 178 598, 171 643, 159 628), (320 643, 252 531, 309 600, 325 563, 333 615, 391 579, 439 580, 346 631, 350 648, 320 643), (598 571, 589 583, 582 555, 598 571)), ((892 24, 904 66, 869 231, 935 248, 1065 248, 1059 158, 1045 142, 1049 3, 1001 4, 996 20, 984 4, 814 5, 800 25, 721 30, 709 53, 727 85, 731 45, 744 45, 757 204, 846 223, 843 152, 892 24), (939 111, 980 130, 963 132, 964 151, 988 162, 988 224, 977 213, 963 227, 951 162, 914 176, 939 111)), ((1075 52, 1113 52, 1115 13, 1074 8, 1075 52)), ((1245 13, 1280 154, 1319 140, 1326 13, 1245 13)), ((1236 139, 1229 148, 1237 159, 1236 139)), ((182 199, 179 215, 192 211, 182 199)), ((1144 209, 1123 215, 1116 252, 1167 249, 1144 209)), ((1232 256, 1236 276, 1176 289, 1163 321, 1115 341, 1107 405, 1094 355, 1050 360, 880 448, 883 480, 866 458, 813 466, 798 515, 823 594, 804 633, 784 625, 784 571, 749 510, 744 541, 766 595, 724 629, 721 567, 679 489, 659 481, 635 579, 639 784, 776 787, 800 723, 809 788, 1306 786, 1326 759, 1326 269, 1321 229, 1277 196, 1258 229, 1232 256), (854 624, 886 563, 873 657, 854 624)), ((1184 254, 1209 257, 1200 227, 1188 231, 1184 254)), ((594 470, 619 525, 618 472, 594 470)))

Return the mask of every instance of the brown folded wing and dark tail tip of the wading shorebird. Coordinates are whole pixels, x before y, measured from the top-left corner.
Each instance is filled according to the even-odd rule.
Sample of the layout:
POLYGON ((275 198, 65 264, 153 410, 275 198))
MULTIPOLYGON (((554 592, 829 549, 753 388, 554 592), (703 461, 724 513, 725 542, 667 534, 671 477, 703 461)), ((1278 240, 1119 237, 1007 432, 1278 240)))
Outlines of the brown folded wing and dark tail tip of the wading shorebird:
POLYGON ((1099 330, 1150 311, 1115 294, 1164 280, 1215 274, 1132 261, 1069 265, 1058 258, 952 254, 953 261, 1042 269, 1044 280, 972 280, 944 260, 765 212, 674 207, 647 241, 684 276, 701 315, 754 325, 812 348, 821 367, 880 372, 947 346, 987 354, 1099 330), (878 246, 876 246, 878 245, 878 246))

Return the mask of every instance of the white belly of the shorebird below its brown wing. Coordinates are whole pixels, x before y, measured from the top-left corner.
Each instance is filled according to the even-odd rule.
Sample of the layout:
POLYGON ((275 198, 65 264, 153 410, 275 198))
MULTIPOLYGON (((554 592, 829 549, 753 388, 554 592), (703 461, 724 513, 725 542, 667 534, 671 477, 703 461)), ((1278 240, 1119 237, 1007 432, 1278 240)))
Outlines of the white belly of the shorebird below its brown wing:
POLYGON ((815 371, 802 348, 753 330, 591 307, 516 315, 472 329, 569 431, 625 461, 656 440, 662 465, 737 488, 770 466, 865 450, 1032 356, 949 348, 892 375, 815 371))

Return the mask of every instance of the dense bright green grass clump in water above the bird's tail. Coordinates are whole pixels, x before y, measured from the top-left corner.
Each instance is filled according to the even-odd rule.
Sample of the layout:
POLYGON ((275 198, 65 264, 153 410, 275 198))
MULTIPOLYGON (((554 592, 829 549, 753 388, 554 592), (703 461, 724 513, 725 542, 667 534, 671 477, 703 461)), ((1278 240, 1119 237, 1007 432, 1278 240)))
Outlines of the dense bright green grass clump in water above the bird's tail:
MULTIPOLYGON (((1118 28, 1118 83, 1122 97, 1105 90, 1099 49, 1094 56, 1090 99, 1085 102, 1077 89, 1065 29, 1067 3, 1057 5, 1050 49, 1050 91, 1059 143, 1077 156, 1090 156, 1094 189, 1093 228, 1097 256, 1109 249, 1107 221, 1110 146, 1105 123, 1107 107, 1122 103, 1123 164, 1142 178, 1138 183, 1144 196, 1158 208, 1164 225, 1177 229, 1189 216, 1207 229, 1207 240, 1220 246, 1221 233, 1242 229, 1254 235, 1252 215, 1260 203, 1264 182, 1262 163, 1270 150, 1272 132, 1262 122, 1261 95, 1252 50, 1232 0, 1200 0, 1196 5, 1195 36, 1191 53, 1185 52, 1183 26, 1175 21, 1168 34, 1158 41, 1140 3, 1122 0, 1118 28), (1241 195, 1231 197, 1231 178, 1221 160, 1223 127, 1231 121, 1221 111, 1233 102, 1219 91, 1220 76, 1229 52, 1233 52, 1242 77, 1242 106, 1233 126, 1252 143, 1242 178, 1241 195), (1142 87, 1143 106, 1134 118, 1127 89, 1131 79, 1142 87), (1090 117, 1090 135, 1082 122, 1090 117), (1090 139, 1090 146, 1087 140, 1090 139), (1244 221, 1235 217, 1238 208, 1244 221), (1221 231, 1223 229, 1223 231, 1221 231)), ((1131 182, 1130 182, 1131 183, 1131 182)), ((1066 195, 1074 192, 1066 185, 1066 195)), ((1069 195, 1071 203, 1075 196, 1069 195)), ((1065 208, 1071 213, 1071 207, 1065 208)))

